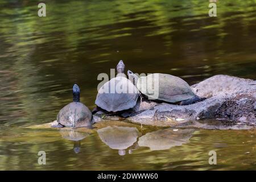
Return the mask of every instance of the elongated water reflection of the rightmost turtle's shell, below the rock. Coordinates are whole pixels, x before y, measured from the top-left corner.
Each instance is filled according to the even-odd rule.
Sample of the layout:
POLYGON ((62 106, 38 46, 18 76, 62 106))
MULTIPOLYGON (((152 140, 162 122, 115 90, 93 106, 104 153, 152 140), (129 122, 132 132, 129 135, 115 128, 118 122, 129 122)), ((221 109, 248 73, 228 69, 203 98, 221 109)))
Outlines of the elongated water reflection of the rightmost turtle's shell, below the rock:
POLYGON ((193 129, 158 130, 140 137, 138 144, 140 147, 150 147, 150 150, 167 150, 187 143, 194 131, 193 129))

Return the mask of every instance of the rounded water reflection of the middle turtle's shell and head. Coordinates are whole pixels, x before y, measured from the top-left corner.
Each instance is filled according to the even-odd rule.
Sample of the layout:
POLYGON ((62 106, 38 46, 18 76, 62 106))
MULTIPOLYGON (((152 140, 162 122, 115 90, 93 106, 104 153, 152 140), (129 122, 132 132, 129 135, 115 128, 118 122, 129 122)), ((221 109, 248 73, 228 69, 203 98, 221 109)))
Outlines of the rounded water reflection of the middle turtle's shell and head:
POLYGON ((118 150, 119 155, 125 155, 126 149, 133 146, 139 137, 136 127, 108 126, 97 130, 98 136, 106 145, 118 150))

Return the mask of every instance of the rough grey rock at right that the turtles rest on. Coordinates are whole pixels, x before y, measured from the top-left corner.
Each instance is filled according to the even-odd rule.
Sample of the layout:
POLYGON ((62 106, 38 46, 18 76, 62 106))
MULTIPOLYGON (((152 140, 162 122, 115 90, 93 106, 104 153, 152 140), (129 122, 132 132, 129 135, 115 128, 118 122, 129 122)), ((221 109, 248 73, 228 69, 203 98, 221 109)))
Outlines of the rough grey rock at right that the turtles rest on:
MULTIPOLYGON (((191 88, 198 96, 206 97, 207 100, 185 106, 139 100, 134 109, 129 111, 130 117, 127 119, 155 126, 184 126, 201 119, 256 125, 256 81, 216 75, 192 85, 191 88)), ((112 117, 108 119, 110 118, 112 117)))

